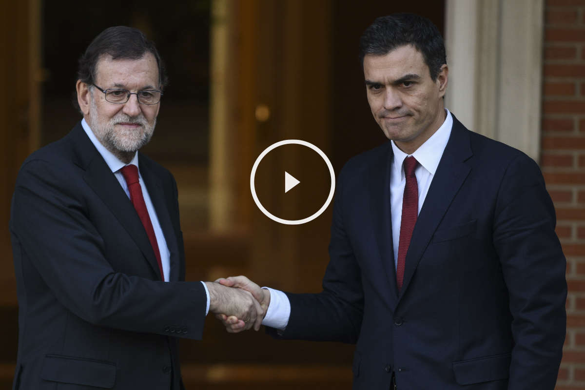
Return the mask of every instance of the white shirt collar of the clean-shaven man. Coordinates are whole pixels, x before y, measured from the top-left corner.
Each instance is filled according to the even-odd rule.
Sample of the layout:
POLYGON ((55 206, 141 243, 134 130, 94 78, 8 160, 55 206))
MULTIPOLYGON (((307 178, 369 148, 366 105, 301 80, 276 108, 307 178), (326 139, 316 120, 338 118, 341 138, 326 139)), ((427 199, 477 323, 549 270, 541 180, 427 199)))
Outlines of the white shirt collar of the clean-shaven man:
POLYGON ((445 109, 445 112, 447 114, 445 122, 443 122, 435 134, 426 140, 425 143, 422 144, 411 155, 408 155, 404 153, 404 151, 398 149, 398 146, 396 146, 394 141, 391 141, 392 150, 394 151, 394 170, 396 175, 402 175, 402 177, 404 177, 402 163, 404 163, 404 159, 408 156, 414 156, 414 158, 417 159, 418 163, 421 164, 425 170, 429 171, 431 175, 435 175, 437 167, 439 166, 439 161, 441 161, 443 151, 445 151, 445 147, 447 146, 449 136, 451 135, 451 129, 453 127, 453 116, 451 116, 451 113, 448 109, 445 109))

